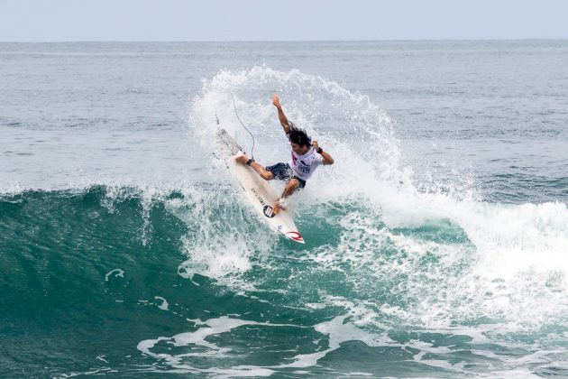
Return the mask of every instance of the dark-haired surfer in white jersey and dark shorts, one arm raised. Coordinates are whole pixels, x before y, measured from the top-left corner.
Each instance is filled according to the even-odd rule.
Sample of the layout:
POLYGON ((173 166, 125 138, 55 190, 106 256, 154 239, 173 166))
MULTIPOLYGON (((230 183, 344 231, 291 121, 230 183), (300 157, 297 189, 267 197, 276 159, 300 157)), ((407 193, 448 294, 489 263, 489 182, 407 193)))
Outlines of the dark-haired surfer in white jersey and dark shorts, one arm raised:
POLYGON ((292 147, 290 162, 279 162, 272 166, 263 167, 258 162, 254 162, 253 159, 249 159, 246 154, 238 156, 235 161, 251 166, 264 180, 288 180, 282 195, 272 206, 272 212, 277 214, 280 209, 285 209, 282 205, 284 199, 288 198, 296 189, 306 187, 306 181, 316 171, 317 166, 334 164, 334 159, 329 153, 324 152, 317 141, 312 141, 305 130, 288 121, 282 106, 280 106, 278 95, 275 94, 272 97, 272 104, 278 109, 280 124, 292 147))

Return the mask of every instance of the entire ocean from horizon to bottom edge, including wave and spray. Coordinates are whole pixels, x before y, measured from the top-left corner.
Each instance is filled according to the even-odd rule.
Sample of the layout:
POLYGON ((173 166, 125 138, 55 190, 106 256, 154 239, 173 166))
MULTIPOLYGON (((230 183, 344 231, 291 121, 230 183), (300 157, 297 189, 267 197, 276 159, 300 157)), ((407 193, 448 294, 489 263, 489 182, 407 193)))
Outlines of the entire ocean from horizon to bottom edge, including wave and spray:
POLYGON ((2 377, 568 375, 566 41, 0 43, 0 99, 2 377), (275 92, 306 245, 218 160, 275 92))

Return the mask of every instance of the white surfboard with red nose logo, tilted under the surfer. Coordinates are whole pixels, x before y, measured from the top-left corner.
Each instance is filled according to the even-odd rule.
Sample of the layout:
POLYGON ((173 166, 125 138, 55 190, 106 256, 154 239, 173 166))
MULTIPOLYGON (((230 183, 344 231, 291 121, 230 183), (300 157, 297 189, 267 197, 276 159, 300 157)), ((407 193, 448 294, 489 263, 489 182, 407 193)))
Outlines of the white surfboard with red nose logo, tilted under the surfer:
POLYGON ((270 228, 286 236, 299 244, 305 244, 304 237, 298 232, 298 227, 287 210, 281 210, 278 214, 272 212, 272 204, 279 199, 276 190, 272 188, 267 180, 250 166, 245 166, 234 162, 234 158, 240 153, 244 153, 241 146, 234 141, 223 128, 217 132, 217 139, 224 149, 222 159, 226 162, 229 171, 239 182, 246 194, 246 198, 251 202, 252 208, 270 228))

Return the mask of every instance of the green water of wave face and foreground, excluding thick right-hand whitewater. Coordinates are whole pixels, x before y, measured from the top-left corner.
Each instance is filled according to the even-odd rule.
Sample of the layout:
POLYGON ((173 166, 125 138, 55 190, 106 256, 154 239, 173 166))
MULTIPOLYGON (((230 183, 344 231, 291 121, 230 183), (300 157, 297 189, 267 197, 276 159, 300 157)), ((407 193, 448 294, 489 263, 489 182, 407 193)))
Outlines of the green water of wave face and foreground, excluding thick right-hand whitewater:
MULTIPOLYGON (((448 220, 385 237, 386 226, 369 209, 329 204, 299 220, 308 245, 270 234, 268 250, 259 245, 247 255, 250 267, 233 263, 223 272, 214 267, 227 259, 226 246, 213 245, 208 254, 218 255, 210 261, 192 262, 192 236, 231 233, 218 219, 246 219, 249 210, 229 201, 207 210, 213 221, 179 218, 199 214, 197 208, 181 192, 149 200, 138 189, 3 196, 3 373, 455 377, 507 370, 508 358, 530 355, 541 343, 554 346, 554 336, 567 331, 548 325, 526 336, 503 334, 493 328, 502 319, 444 309, 436 291, 447 291, 475 261, 463 229, 448 220), (325 225, 307 229, 320 218, 325 225), (339 233, 342 225, 352 232, 339 233), (400 248, 399 236, 434 247, 417 254, 400 248), (443 245, 467 254, 444 262, 443 245), (440 301, 434 320, 452 318, 444 328, 428 330, 421 321, 425 299, 440 301), (184 333, 193 334, 184 340, 184 333), (147 350, 139 345, 152 339, 147 350), (310 356, 313 365, 306 364, 310 356)), ((240 227, 263 226, 251 219, 240 227)), ((467 308, 467 300, 451 305, 467 308)), ((563 356, 562 338, 558 343, 562 350, 550 356, 563 356)), ((533 365, 542 370, 542 361, 533 365)))

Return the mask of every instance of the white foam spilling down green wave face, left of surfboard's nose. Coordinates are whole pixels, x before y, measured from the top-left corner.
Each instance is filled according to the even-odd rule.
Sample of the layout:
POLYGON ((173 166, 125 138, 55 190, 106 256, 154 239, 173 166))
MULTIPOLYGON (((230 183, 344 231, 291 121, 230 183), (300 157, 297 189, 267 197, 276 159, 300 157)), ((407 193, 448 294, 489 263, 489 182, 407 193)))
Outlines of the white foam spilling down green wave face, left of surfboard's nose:
POLYGON ((192 279, 199 274, 234 288, 237 282, 243 288, 249 285, 239 275, 251 269, 253 255, 268 254, 277 237, 243 206, 240 195, 222 186, 193 188, 184 191, 184 199, 166 202, 166 208, 188 225, 188 236, 182 239, 188 256, 179 265, 182 276, 192 279))

